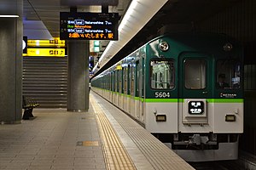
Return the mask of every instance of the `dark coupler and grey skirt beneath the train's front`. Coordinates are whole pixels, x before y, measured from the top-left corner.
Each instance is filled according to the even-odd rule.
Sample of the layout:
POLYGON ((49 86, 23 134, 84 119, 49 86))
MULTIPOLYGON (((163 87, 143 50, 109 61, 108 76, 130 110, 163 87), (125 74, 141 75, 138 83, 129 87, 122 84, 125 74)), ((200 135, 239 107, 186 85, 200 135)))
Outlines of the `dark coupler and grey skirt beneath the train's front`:
POLYGON ((153 134, 185 161, 223 161, 238 159, 239 134, 153 134))

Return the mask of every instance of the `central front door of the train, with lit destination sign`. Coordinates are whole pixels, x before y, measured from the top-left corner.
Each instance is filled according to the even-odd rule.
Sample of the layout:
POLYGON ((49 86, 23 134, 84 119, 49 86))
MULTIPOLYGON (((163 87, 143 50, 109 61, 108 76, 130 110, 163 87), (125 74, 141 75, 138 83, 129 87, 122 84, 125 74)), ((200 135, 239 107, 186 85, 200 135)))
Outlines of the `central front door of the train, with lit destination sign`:
MULTIPOLYGON (((212 63, 207 54, 184 53, 179 58, 179 115, 183 125, 208 124, 207 99, 212 97, 212 63)), ((179 130, 188 132, 188 129, 179 130)))

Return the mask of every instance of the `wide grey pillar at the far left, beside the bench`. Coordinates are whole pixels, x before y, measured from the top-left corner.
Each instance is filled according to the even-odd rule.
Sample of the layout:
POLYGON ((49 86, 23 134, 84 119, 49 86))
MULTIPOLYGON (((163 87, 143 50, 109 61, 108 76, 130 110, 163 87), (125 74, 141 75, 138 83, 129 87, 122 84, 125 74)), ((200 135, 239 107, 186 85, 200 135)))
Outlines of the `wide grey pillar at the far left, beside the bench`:
POLYGON ((0 124, 14 124, 20 123, 22 116, 23 0, 3 1, 1 5, 0 124))

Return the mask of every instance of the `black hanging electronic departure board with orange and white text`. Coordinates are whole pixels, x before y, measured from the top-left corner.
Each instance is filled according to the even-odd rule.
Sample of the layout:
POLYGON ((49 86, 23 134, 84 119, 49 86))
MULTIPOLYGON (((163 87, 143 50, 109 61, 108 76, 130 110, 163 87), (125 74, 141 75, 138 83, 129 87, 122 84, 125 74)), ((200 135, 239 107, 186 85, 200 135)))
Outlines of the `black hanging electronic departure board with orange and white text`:
POLYGON ((61 40, 118 40, 118 13, 60 14, 61 40))

